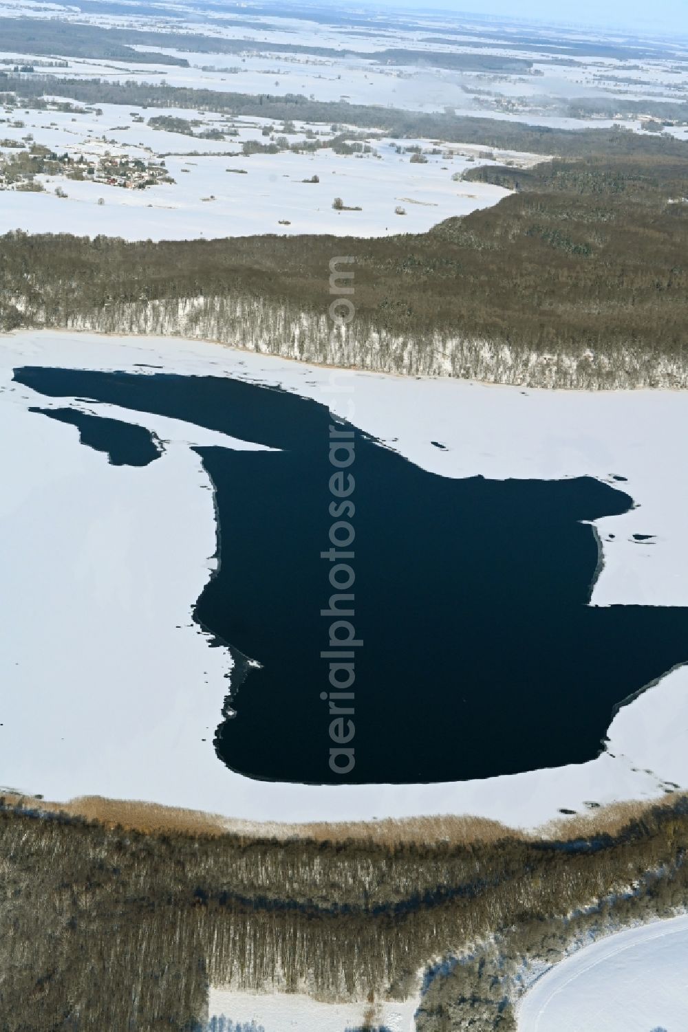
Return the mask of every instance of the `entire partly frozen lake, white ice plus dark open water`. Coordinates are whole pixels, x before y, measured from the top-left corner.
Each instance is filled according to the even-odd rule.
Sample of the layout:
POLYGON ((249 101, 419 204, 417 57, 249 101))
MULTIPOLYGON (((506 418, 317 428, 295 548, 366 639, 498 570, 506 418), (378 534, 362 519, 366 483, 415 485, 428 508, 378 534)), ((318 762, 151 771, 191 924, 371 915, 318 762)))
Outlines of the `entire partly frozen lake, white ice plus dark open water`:
POLYGON ((688 783, 686 668, 668 672, 681 663, 688 601, 686 487, 671 446, 685 418, 681 392, 524 392, 334 373, 200 342, 45 332, 4 337, 1 370, 3 440, 21 448, 5 448, 1 464, 0 782, 46 798, 148 799, 250 819, 444 812, 530 827, 688 783), (27 366, 38 367, 34 386, 42 379, 46 393, 12 380, 27 366), (65 370, 59 382, 56 367, 65 370), (165 397, 162 385, 175 383, 179 396, 165 397), (125 396, 134 387, 138 396, 125 396), (107 390, 116 401, 104 400, 107 390), (256 779, 310 780, 313 757, 327 763, 327 407, 348 418, 358 449, 354 591, 366 644, 356 677, 372 688, 357 694, 352 719, 364 775, 381 776, 387 763, 375 787, 256 779), (146 431, 135 441, 132 424, 146 431), (298 569, 282 554, 290 534, 298 569), (564 543, 570 560, 560 563, 564 543), (550 573, 546 550, 560 563, 550 573), (371 583, 377 570, 386 582, 371 583), (521 582, 520 595, 499 594, 504 577, 521 582), (565 611, 581 621, 564 643, 577 682, 553 666, 563 664, 565 611), (496 617, 473 641, 486 613, 496 617), (624 624, 632 631, 621 647, 624 624), (383 634, 401 642, 388 659, 383 634), (234 660, 241 651, 262 664, 247 667, 228 720, 227 675, 236 688, 239 668, 228 646, 212 647, 218 638, 234 660), (628 641, 629 654, 645 654, 627 680, 628 641), (376 669, 394 672, 395 691, 379 691, 376 669), (508 682, 469 696, 464 669, 502 671, 508 682), (441 678, 441 698, 428 671, 441 678), (591 671, 598 702, 581 680, 591 671), (653 677, 613 717, 620 692, 653 677), (500 706, 523 741, 512 741, 500 706), (307 741, 300 713, 317 739, 307 741), (409 754, 374 741, 387 719, 409 754), (218 759, 218 730, 244 773, 218 759), (435 768, 424 766, 423 736, 433 734, 435 768), (578 747, 594 756, 605 734, 596 759, 564 759, 578 747), (271 749, 256 749, 254 735, 270 735, 271 749), (291 741, 305 743, 303 756, 291 741), (526 770, 548 756, 553 766, 526 770), (450 780, 392 783, 409 770, 440 776, 441 764, 450 780), (509 764, 524 773, 471 774, 509 764))

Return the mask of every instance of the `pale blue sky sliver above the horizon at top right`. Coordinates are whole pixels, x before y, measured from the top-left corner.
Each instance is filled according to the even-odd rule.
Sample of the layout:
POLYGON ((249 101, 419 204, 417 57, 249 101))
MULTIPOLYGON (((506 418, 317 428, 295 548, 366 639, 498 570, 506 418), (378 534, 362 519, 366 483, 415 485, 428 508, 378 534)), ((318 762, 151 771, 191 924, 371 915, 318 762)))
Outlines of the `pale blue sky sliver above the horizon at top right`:
MULTIPOLYGON (((382 2, 385 6, 421 7, 417 0, 382 2)), ((688 0, 429 0, 425 9, 498 14, 514 22, 537 19, 550 24, 590 24, 688 37, 688 0)))

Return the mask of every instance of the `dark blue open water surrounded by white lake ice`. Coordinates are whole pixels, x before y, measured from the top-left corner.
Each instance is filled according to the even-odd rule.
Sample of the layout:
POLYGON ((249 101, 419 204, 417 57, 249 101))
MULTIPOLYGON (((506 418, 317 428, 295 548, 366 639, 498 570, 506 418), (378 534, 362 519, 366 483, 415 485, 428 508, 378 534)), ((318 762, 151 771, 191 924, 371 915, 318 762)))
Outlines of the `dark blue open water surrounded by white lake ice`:
MULTIPOLYGON (((234 678, 236 716, 218 707, 218 755, 243 774, 416 782, 582 763, 598 753, 616 704, 688 660, 688 610, 586 605, 598 548, 582 521, 630 508, 620 489, 591 478, 447 479, 351 428, 352 622, 364 645, 355 767, 338 776, 320 699, 331 622, 320 610, 333 590, 319 555, 333 522, 327 410, 212 377, 25 367, 15 380, 281 449, 197 449, 216 487, 221 568, 195 618, 261 665, 234 678)), ((121 458, 117 424, 104 429, 121 458)), ((127 455, 145 464, 151 441, 135 437, 127 455)))

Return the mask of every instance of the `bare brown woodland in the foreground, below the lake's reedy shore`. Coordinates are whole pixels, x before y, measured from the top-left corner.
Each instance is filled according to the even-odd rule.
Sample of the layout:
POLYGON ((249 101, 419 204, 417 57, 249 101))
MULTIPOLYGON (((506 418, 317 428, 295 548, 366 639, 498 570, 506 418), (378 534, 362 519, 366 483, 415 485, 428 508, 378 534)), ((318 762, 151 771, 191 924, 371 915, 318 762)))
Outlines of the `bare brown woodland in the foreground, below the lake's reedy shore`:
POLYGON ((146 833, 0 801, 0 1028, 191 1032, 210 983, 403 998, 425 969, 418 1032, 513 1030, 530 964, 685 909, 675 799, 578 839, 427 843, 146 833))

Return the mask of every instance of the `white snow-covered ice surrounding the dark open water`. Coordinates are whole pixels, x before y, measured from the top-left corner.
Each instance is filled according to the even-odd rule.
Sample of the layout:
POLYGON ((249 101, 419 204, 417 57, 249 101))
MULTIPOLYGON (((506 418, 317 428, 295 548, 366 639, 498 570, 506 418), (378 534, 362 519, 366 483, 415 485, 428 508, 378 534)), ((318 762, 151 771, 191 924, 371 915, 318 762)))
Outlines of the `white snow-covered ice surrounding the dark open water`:
POLYGON ((116 469, 80 445, 73 427, 30 414, 29 406, 45 399, 11 383, 12 368, 23 364, 143 373, 139 363, 280 384, 331 405, 443 476, 626 478, 620 486, 637 508, 597 524, 603 567, 592 602, 688 604, 682 392, 523 391, 346 374, 178 338, 6 336, 0 783, 57 800, 147 799, 249 819, 473 813, 531 827, 560 808, 584 812, 586 802, 650 799, 667 780, 688 784, 683 668, 622 709, 607 751, 581 766, 374 787, 271 784, 226 770, 212 739, 228 656, 209 648, 190 619, 213 566, 213 498, 187 442, 252 446, 175 420, 90 406, 143 422, 169 442, 151 466, 116 469))

